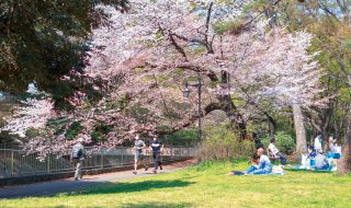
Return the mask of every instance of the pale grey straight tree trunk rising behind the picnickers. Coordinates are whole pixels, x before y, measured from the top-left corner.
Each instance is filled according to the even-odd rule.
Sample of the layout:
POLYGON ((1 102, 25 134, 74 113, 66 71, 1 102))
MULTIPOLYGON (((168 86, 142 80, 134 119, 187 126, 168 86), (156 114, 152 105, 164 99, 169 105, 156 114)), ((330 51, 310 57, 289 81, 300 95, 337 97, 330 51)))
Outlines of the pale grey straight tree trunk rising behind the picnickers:
POLYGON ((307 152, 306 131, 304 116, 301 106, 293 104, 294 126, 296 132, 296 153, 307 152))

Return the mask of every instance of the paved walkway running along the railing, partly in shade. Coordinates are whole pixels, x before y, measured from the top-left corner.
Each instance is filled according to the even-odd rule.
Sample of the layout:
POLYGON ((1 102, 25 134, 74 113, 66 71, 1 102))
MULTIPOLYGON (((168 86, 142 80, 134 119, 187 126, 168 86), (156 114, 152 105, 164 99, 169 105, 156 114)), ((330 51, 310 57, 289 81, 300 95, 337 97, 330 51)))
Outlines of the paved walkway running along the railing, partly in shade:
MULTIPOLYGON (((165 165, 162 171, 158 174, 171 173, 188 165, 194 164, 194 161, 185 161, 165 165)), ((147 177, 155 174, 151 173, 152 169, 148 172, 139 170, 138 174, 133 174, 132 171, 123 171, 115 173, 106 173, 100 175, 87 175, 82 181, 75 182, 73 178, 57 180, 52 182, 35 183, 29 185, 19 185, 0 188, 1 198, 20 198, 20 197, 33 197, 33 196, 52 196, 59 193, 67 193, 73 190, 82 190, 87 187, 101 185, 109 182, 126 181, 136 177, 147 177)))

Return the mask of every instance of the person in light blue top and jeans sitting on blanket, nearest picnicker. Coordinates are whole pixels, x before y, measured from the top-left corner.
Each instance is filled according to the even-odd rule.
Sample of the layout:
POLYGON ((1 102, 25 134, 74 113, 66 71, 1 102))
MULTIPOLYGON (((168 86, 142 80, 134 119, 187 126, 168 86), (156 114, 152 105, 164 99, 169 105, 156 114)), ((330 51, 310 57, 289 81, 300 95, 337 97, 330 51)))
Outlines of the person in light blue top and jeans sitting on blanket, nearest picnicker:
POLYGON ((272 163, 270 159, 267 155, 264 155, 263 148, 259 148, 257 150, 257 154, 260 157, 259 164, 251 165, 248 170, 246 170, 245 174, 264 175, 272 173, 272 163))

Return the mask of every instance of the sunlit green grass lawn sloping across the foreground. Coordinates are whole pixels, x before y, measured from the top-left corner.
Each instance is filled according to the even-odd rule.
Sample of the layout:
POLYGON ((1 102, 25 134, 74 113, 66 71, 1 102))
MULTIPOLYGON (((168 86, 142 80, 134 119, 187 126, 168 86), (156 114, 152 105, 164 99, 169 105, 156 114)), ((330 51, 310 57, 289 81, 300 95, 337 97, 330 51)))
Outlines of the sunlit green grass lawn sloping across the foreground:
POLYGON ((82 193, 0 200, 0 207, 351 207, 351 176, 286 172, 230 176, 246 162, 204 163, 82 193))

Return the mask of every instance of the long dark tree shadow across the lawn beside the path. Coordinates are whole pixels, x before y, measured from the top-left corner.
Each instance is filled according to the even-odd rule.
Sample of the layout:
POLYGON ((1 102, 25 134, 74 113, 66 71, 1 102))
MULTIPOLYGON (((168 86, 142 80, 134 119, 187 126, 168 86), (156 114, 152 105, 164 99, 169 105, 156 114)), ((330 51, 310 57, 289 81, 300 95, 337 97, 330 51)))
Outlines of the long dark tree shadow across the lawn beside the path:
POLYGON ((71 193, 69 195, 97 195, 97 194, 118 194, 118 193, 135 193, 144 192, 149 189, 159 189, 159 188, 172 188, 172 187, 185 187, 193 182, 186 182, 182 180, 173 181, 144 181, 144 182, 131 182, 131 183, 109 183, 93 189, 81 192, 81 193, 71 193))

